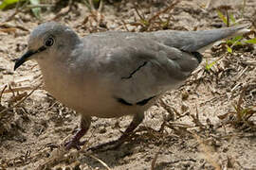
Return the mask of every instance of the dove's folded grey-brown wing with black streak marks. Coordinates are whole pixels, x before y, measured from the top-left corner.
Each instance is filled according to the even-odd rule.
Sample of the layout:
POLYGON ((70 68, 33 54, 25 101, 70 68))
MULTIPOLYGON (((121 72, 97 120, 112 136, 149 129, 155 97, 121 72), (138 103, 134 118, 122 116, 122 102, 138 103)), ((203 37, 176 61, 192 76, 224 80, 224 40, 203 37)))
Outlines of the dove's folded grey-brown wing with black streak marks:
MULTIPOLYGON (((177 88, 198 66, 194 55, 141 37, 105 45, 97 60, 99 75, 107 78, 113 97, 136 104, 177 88)), ((142 102, 143 103, 143 102, 142 102)))

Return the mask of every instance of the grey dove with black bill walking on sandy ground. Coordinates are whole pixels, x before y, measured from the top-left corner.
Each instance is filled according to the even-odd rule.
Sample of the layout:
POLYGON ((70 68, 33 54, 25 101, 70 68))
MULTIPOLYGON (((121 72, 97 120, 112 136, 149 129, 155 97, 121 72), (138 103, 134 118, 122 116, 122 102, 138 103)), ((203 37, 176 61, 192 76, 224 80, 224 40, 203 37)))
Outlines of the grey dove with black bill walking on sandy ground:
POLYGON ((27 52, 14 70, 29 59, 41 69, 48 93, 81 114, 80 128, 64 144, 81 149, 91 117, 132 115, 119 137, 122 144, 143 121, 144 112, 161 94, 177 89, 203 59, 213 42, 244 34, 247 25, 211 30, 153 32, 105 31, 80 37, 70 27, 46 22, 34 28, 27 52))

